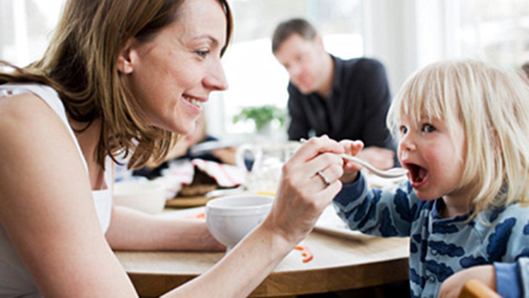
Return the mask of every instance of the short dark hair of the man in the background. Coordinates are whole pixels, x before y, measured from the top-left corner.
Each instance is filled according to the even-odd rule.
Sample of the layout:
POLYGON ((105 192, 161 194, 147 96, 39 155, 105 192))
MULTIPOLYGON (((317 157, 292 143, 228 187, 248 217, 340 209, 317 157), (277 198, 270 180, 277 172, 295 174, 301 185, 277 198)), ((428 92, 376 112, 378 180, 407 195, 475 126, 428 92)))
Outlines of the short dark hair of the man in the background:
POLYGON ((305 40, 314 40, 316 29, 303 18, 292 18, 277 25, 272 36, 272 52, 275 53, 281 44, 291 35, 298 34, 305 40))

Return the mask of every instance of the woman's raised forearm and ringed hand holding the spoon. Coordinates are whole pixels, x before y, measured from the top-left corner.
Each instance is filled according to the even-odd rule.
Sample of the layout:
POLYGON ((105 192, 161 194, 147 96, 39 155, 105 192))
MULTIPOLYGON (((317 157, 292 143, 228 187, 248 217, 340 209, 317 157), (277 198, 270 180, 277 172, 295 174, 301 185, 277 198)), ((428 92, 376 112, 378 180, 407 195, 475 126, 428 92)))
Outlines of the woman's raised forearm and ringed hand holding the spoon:
POLYGON ((341 189, 340 146, 327 137, 312 138, 283 167, 281 184, 266 219, 212 270, 164 297, 248 297, 296 244, 341 189), (315 174, 323 170, 326 186, 315 174), (236 281, 236 282, 235 282, 236 281))

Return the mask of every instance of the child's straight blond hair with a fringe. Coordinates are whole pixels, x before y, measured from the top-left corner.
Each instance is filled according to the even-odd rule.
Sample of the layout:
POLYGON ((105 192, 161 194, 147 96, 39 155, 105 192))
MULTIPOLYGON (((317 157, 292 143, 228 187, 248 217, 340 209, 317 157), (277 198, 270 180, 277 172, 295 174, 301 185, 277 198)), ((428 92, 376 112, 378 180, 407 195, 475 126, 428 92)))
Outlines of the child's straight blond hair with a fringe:
POLYGON ((461 187, 470 188, 473 216, 491 206, 528 202, 529 88, 516 73, 480 61, 431 64, 404 83, 388 112, 396 131, 406 114, 414 125, 444 121, 466 139, 461 187))

